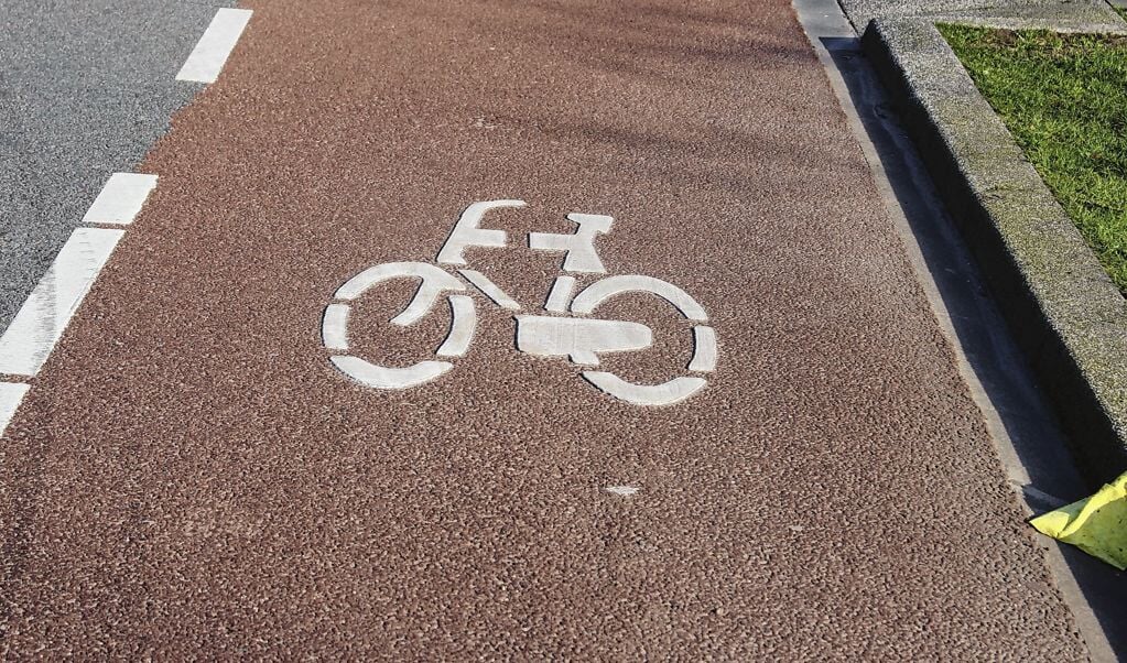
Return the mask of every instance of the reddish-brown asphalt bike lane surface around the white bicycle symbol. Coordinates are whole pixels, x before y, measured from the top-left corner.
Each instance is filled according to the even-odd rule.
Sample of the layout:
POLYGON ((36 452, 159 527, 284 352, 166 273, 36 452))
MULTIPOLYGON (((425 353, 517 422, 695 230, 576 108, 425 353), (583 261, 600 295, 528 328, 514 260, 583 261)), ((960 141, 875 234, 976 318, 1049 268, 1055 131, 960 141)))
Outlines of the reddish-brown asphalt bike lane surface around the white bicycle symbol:
MULTIPOLYGON (((604 5, 246 3, 0 448, 9 654, 1084 656, 789 5, 604 5), (708 312, 708 386, 616 400, 472 290, 450 373, 338 372, 337 288, 502 198, 469 267, 545 315, 526 235, 611 215, 607 272, 708 312)), ((433 359, 409 285, 354 354, 433 359)), ((660 300, 598 317, 654 330, 600 370, 685 373, 660 300)))

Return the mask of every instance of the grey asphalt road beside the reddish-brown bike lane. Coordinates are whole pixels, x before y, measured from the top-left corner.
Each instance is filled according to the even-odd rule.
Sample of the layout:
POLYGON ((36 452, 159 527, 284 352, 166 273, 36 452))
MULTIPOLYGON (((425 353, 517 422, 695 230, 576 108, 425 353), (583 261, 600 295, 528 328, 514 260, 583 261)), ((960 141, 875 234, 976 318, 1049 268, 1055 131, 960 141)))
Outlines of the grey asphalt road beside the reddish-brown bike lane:
POLYGON ((0 3, 0 330, 115 170, 132 170, 203 86, 176 72, 218 7, 0 3))

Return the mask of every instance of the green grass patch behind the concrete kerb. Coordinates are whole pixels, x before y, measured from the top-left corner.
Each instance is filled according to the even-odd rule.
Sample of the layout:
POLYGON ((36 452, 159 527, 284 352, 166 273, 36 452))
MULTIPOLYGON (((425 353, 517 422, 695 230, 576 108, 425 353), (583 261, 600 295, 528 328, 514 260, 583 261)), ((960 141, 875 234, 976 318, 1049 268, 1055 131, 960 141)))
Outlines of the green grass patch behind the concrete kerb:
POLYGON ((940 30, 1127 297, 1127 37, 940 30))

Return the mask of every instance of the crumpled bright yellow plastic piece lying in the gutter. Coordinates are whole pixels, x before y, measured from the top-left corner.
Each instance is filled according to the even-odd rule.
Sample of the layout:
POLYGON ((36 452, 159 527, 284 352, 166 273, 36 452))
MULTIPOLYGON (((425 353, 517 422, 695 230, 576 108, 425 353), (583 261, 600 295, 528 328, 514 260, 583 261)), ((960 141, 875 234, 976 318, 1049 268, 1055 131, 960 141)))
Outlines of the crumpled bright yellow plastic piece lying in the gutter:
POLYGON ((1127 571, 1127 474, 1099 493, 1029 521, 1037 531, 1127 571))

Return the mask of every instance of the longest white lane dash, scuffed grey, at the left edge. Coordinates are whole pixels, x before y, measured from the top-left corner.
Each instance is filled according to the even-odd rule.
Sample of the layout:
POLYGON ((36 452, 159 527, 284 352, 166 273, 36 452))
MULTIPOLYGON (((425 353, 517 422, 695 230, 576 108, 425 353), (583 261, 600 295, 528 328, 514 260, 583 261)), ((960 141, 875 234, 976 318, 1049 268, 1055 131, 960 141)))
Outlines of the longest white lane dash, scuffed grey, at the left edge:
POLYGON ((35 375, 124 230, 79 228, 0 336, 0 373, 35 375))

